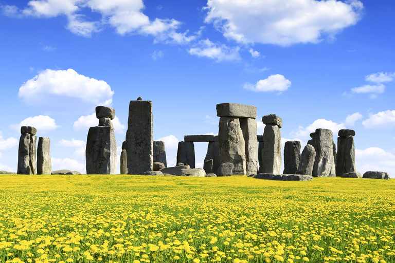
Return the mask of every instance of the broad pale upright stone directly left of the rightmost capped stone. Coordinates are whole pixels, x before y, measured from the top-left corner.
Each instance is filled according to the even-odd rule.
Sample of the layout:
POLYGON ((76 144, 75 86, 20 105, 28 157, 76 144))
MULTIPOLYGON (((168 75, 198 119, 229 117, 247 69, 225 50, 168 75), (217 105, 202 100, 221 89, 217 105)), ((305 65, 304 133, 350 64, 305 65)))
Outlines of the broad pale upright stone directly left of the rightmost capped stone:
POLYGON ((335 177, 336 166, 333 156, 333 134, 330 129, 316 129, 314 148, 315 162, 313 166, 314 177, 335 177))

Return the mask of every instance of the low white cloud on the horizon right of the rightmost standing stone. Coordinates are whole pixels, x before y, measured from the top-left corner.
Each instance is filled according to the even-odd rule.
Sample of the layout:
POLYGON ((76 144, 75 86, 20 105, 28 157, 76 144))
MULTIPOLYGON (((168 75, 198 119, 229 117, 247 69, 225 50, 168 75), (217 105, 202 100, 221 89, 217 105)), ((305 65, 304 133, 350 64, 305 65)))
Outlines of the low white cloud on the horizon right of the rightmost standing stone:
POLYGON ((355 149, 356 170, 362 175, 366 171, 380 171, 395 176, 395 155, 382 148, 370 147, 364 150, 355 149))

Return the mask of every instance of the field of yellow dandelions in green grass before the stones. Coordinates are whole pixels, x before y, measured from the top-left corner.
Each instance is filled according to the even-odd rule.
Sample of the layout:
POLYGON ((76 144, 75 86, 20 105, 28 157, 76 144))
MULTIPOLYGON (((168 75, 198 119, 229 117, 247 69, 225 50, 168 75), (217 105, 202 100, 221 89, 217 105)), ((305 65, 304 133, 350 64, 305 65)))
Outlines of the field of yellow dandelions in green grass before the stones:
POLYGON ((0 175, 0 262, 395 262, 395 180, 0 175))

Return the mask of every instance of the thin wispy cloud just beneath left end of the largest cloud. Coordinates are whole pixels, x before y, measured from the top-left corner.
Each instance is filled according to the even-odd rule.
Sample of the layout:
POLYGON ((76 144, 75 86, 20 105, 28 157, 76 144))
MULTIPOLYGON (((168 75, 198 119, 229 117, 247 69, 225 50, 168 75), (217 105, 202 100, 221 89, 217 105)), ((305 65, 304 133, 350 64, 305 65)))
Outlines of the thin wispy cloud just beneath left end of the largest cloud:
POLYGON ((224 44, 215 44, 209 39, 201 40, 196 47, 190 48, 188 52, 196 57, 206 57, 221 61, 240 60, 239 47, 229 48, 224 44))

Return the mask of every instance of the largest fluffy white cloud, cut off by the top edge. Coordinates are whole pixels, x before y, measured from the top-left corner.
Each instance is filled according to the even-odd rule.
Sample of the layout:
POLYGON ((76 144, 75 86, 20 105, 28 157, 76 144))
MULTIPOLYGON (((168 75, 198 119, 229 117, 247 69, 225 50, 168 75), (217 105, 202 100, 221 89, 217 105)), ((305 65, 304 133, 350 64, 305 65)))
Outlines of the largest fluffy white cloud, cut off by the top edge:
POLYGON ((330 39, 361 19, 358 0, 208 0, 206 23, 239 43, 288 46, 330 39))

